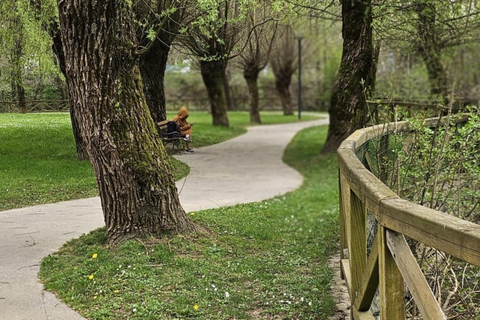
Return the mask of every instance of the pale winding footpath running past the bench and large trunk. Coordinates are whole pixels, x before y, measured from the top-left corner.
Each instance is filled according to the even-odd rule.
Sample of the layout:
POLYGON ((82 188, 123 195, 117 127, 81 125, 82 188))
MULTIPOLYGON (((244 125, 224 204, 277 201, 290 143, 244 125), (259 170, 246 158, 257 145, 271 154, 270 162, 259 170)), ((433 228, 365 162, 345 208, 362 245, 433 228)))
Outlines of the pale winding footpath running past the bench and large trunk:
MULTIPOLYGON (((251 127, 232 140, 182 154, 190 174, 177 183, 187 212, 254 202, 292 191, 302 176, 282 162, 299 130, 327 119, 251 127)), ((0 320, 84 319, 37 280, 40 260, 103 225, 99 198, 0 212, 0 320)))

